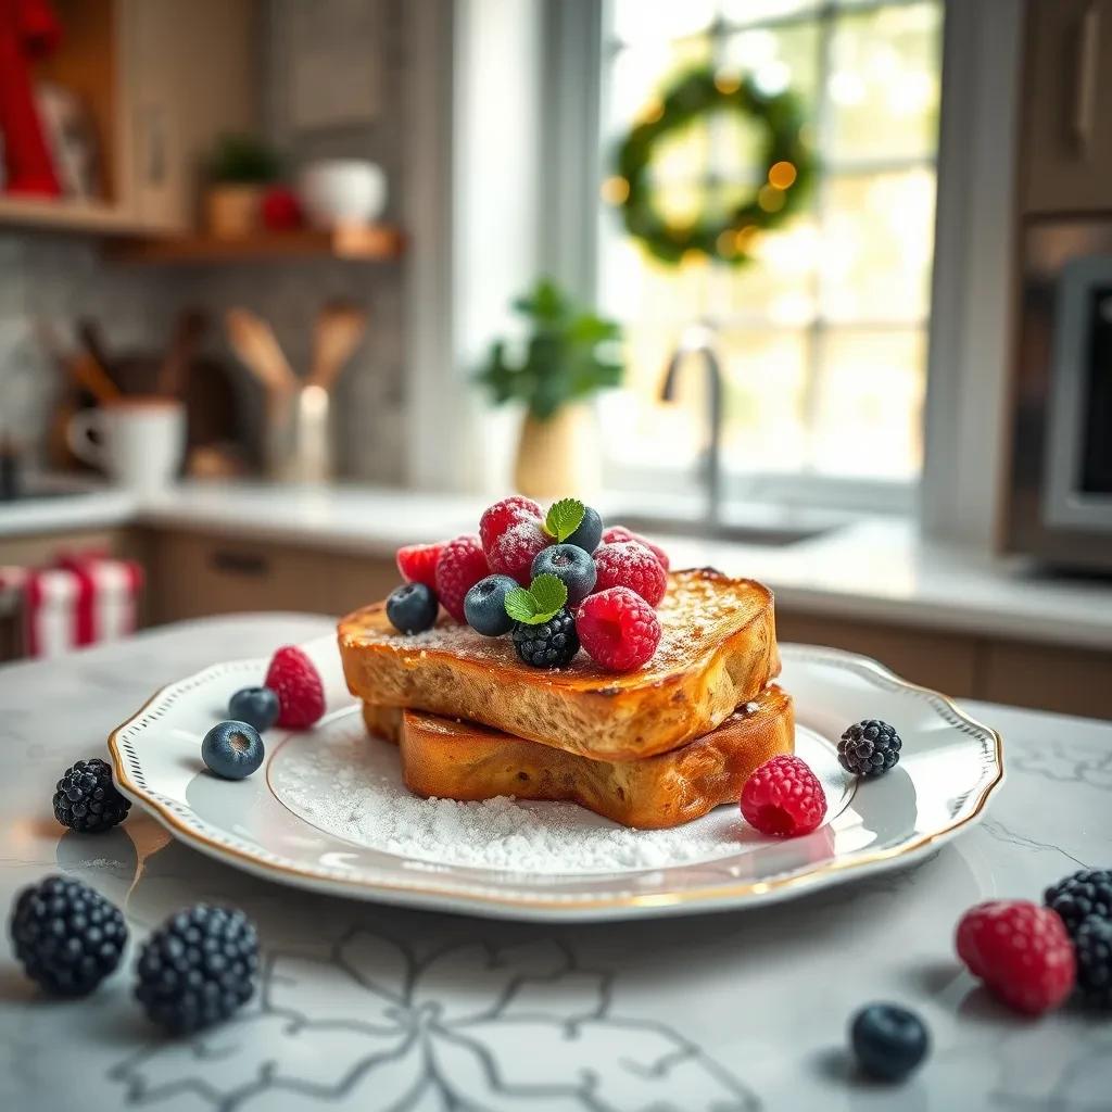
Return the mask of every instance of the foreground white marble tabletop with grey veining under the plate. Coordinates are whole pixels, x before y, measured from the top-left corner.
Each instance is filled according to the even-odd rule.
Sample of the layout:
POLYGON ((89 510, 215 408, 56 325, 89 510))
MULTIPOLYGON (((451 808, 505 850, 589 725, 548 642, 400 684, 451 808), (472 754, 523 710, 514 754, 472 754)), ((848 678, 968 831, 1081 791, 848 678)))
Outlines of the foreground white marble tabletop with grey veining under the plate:
POLYGON ((157 686, 329 625, 208 619, 0 668, 3 907, 61 872, 123 909, 128 965, 150 930, 200 900, 247 911, 265 951, 262 991, 239 1017, 173 1041, 146 1024, 129 973, 85 1001, 50 1001, 4 944, 0 1108, 1108 1108, 1112 1024, 1070 1010, 1017 1019, 961 970, 952 934, 977 901, 1037 897, 1075 868, 1110 864, 1110 724, 971 702, 1004 736, 1007 781, 984 822, 935 856, 772 907, 636 925, 489 922, 310 895, 186 848, 138 808, 99 836, 54 823, 57 777, 103 755, 107 734, 157 686), (846 1021, 872 1000, 910 1005, 930 1025, 932 1054, 904 1086, 847 1066, 846 1021), (509 1085, 513 1074, 524 1080, 509 1085))

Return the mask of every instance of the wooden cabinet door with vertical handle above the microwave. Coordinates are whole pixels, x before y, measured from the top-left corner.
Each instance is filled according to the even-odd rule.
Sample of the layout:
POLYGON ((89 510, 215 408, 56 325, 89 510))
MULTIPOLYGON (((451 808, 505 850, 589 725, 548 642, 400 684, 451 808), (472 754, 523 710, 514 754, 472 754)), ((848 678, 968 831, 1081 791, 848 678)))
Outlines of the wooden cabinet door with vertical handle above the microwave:
POLYGON ((1021 95, 1023 210, 1112 207, 1112 0, 1032 0, 1021 95))

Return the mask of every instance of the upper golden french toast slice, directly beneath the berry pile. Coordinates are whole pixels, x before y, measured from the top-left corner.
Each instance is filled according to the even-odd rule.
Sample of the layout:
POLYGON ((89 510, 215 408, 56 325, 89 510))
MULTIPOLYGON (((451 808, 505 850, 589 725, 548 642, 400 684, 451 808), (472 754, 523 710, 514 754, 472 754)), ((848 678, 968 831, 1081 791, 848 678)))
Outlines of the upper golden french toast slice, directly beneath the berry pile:
POLYGON ((759 583, 674 572, 657 616, 656 655, 624 673, 583 652, 566 668, 533 668, 509 637, 445 616, 400 634, 385 603, 340 622, 339 649, 364 702, 467 718, 595 761, 636 761, 714 729, 780 674, 773 596, 759 583))

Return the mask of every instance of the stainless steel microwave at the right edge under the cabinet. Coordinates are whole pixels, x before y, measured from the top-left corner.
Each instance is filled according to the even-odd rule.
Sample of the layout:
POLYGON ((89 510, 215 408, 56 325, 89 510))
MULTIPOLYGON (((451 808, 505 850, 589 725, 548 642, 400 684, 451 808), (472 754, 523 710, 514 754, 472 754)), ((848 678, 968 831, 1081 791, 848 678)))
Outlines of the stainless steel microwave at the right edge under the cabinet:
POLYGON ((1006 546, 1112 572, 1112 217, 1027 224, 1006 546))

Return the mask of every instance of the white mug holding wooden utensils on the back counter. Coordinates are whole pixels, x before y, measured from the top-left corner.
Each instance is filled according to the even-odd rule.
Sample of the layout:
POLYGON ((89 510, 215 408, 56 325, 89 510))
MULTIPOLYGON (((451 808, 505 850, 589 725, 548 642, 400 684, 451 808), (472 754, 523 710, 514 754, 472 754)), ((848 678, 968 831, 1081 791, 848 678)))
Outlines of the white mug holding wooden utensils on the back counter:
POLYGON ((120 398, 82 409, 66 427, 79 459, 120 486, 153 493, 172 483, 186 451, 186 409, 169 398, 120 398))

